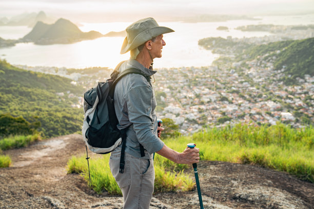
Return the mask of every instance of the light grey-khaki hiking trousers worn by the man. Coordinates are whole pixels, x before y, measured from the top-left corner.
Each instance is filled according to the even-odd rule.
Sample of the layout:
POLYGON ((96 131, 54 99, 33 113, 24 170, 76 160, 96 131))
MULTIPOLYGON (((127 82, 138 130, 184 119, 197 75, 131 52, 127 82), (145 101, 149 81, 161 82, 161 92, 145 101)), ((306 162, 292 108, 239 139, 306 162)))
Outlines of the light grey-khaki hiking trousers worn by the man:
POLYGON ((155 172, 152 159, 142 159, 125 153, 124 173, 119 173, 121 150, 110 155, 111 173, 119 185, 124 209, 149 209, 154 191, 155 172))

